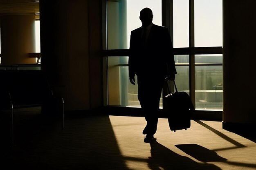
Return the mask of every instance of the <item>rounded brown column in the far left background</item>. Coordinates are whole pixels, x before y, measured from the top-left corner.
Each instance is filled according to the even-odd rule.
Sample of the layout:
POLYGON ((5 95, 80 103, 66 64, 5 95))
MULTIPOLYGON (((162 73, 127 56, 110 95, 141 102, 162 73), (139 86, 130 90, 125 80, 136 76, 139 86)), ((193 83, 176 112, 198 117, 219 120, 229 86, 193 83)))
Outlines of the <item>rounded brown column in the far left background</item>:
POLYGON ((35 15, 1 16, 1 61, 3 65, 35 64, 35 15))

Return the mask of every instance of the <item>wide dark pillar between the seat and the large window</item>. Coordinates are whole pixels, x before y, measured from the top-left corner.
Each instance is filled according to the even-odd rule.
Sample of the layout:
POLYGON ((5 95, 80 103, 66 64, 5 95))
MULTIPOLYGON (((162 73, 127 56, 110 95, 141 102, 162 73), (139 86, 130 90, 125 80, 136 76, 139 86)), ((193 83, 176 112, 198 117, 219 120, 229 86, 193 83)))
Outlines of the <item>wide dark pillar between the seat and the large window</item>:
POLYGON ((101 1, 40 0, 41 68, 65 110, 102 106, 101 1))

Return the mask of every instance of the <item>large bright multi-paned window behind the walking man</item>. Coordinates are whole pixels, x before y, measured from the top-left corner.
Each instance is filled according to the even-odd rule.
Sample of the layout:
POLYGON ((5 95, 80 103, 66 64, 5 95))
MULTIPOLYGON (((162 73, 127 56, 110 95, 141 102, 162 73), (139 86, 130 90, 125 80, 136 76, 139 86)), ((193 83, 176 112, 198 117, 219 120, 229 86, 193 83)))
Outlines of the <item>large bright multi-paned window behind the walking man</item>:
POLYGON ((191 96, 196 110, 222 111, 222 0, 106 2, 106 105, 139 107, 137 85, 128 80, 128 49, 130 31, 141 26, 139 11, 149 7, 153 23, 170 30, 178 91, 191 96))

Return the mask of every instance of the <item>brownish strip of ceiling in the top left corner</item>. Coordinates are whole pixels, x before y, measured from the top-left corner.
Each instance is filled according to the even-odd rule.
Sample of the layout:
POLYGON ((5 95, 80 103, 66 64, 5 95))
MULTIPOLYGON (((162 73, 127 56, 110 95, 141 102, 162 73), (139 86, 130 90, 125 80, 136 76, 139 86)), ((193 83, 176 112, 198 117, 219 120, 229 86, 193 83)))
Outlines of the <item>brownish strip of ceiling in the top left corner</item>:
POLYGON ((39 0, 0 0, 0 15, 36 14, 39 19, 39 0))

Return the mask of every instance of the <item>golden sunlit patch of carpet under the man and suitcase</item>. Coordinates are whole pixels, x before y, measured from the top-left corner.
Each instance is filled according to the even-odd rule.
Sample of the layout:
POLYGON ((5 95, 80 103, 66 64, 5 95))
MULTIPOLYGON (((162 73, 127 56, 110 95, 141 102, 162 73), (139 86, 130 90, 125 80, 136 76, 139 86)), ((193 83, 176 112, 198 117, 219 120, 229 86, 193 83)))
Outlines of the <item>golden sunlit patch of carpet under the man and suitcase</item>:
POLYGON ((121 155, 132 170, 147 170, 158 162, 155 166, 173 168, 169 163, 173 159, 181 161, 181 164, 172 162, 176 166, 184 166, 185 162, 195 167, 207 165, 221 170, 256 169, 256 144, 222 129, 221 122, 191 120, 191 128, 173 132, 168 120, 160 118, 154 137, 157 138, 156 146, 162 149, 160 154, 166 154, 163 159, 155 155, 150 144, 144 143, 144 117, 110 116, 110 121, 121 155))

